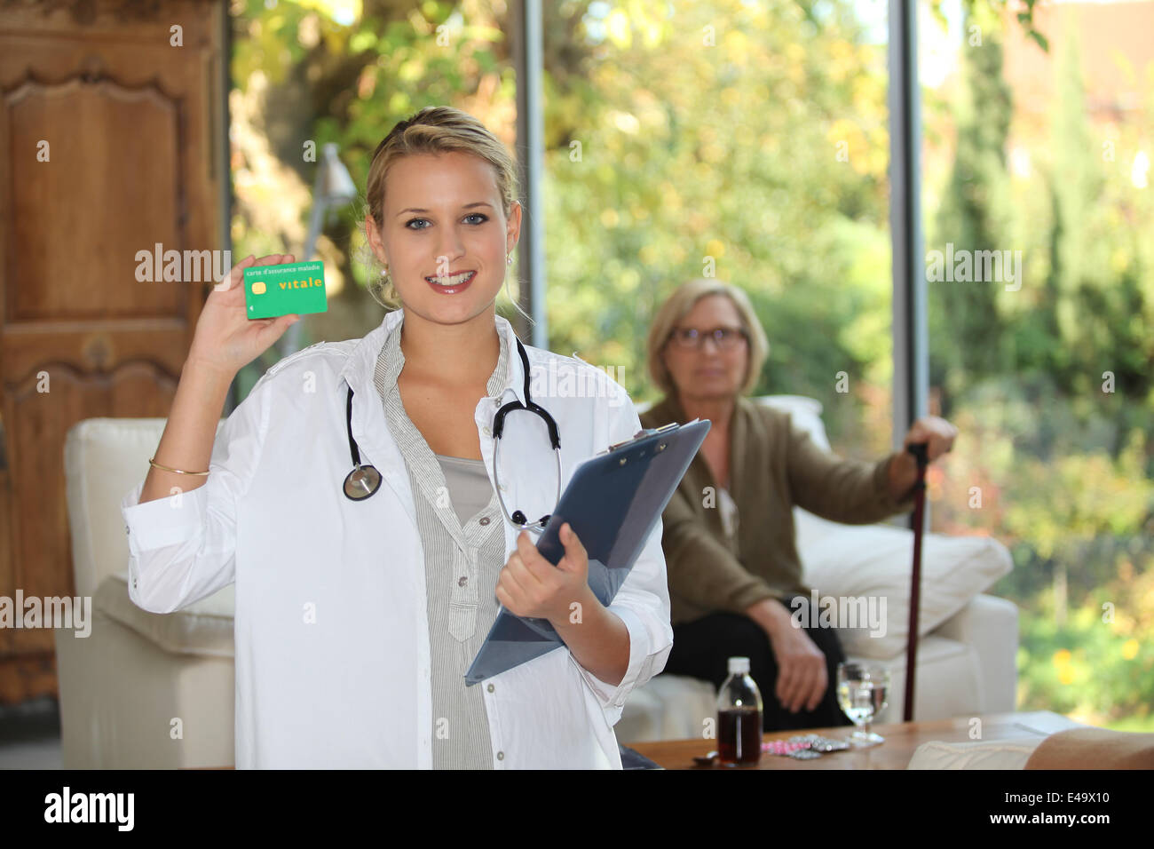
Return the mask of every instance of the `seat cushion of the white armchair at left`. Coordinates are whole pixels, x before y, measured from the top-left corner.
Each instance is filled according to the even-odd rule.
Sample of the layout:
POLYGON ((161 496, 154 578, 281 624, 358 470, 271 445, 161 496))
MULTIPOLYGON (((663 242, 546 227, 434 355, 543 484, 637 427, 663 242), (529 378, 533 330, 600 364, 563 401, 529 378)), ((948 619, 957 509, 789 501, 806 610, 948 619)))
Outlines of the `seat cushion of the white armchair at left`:
POLYGON ((232 657, 234 597, 228 584, 182 610, 151 613, 133 603, 127 575, 119 573, 96 588, 92 606, 166 651, 232 657))

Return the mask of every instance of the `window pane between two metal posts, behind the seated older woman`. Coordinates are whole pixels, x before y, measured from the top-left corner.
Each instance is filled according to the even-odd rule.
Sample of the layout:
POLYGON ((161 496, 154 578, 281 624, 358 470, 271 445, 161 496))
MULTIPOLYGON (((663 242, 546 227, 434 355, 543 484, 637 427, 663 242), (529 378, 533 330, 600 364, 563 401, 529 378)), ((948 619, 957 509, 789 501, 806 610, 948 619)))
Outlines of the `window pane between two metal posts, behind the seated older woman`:
POLYGON ((756 392, 817 397, 838 448, 881 456, 885 5, 804 9, 681 0, 546 13, 549 338, 652 400, 654 310, 685 280, 726 280, 770 340, 756 392))

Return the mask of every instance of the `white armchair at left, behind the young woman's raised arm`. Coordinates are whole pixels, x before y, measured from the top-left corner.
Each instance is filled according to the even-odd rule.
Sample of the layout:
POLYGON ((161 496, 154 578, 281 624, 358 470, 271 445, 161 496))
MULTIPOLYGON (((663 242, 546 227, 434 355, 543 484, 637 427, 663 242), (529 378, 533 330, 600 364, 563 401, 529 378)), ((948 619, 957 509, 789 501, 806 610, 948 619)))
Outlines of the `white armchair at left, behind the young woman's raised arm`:
POLYGON ((164 423, 90 418, 65 441, 76 595, 92 596, 88 638, 55 632, 65 769, 227 766, 235 757, 232 587, 171 615, 128 597, 120 502, 148 471, 164 423))

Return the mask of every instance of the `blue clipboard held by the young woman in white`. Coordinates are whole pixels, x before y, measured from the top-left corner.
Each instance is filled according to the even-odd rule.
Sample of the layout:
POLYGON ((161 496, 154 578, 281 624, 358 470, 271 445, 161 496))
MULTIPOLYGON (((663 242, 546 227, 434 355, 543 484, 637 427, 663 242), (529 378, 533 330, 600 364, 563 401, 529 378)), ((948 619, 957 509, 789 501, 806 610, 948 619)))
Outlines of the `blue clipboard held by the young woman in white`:
MULTIPOLYGON (((556 565, 564 557, 561 526, 569 522, 589 553, 589 586, 608 606, 629 575, 661 512, 700 448, 710 420, 640 431, 583 462, 537 541, 556 565)), ((564 646, 548 619, 504 608, 465 672, 465 685, 512 669, 564 646)))

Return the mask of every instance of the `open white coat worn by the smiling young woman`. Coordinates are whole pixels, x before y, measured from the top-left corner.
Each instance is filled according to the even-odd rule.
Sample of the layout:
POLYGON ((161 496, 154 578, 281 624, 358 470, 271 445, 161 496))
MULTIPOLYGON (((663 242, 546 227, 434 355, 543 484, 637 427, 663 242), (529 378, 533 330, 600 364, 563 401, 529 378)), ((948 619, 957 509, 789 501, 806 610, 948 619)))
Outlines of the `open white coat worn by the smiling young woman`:
MULTIPOLYGON (((122 501, 135 604, 172 612, 235 582, 238 768, 432 767, 425 557, 409 474, 373 385, 385 334, 402 319, 389 313, 361 340, 282 359, 223 425, 203 486, 142 505, 142 481, 122 501), (383 478, 364 501, 342 491, 352 468, 350 386, 361 462, 383 478)), ((500 401, 482 397, 474 415, 490 482, 494 412, 514 397, 524 402, 512 328, 496 322, 509 343, 508 381, 500 401)), ((604 372, 526 352, 531 395, 560 430, 563 483, 578 461, 640 430, 624 389, 604 372), (590 381, 582 392, 578 381, 584 396, 575 396, 567 370, 601 388, 593 393, 590 381)), ((555 462, 544 427, 517 434, 508 422, 501 484, 509 509, 552 507, 555 462), (507 477, 507 456, 540 474, 507 477)), ((502 524, 508 558, 516 533, 502 524)), ((474 685, 495 768, 621 768, 613 725, 673 645, 660 521, 609 610, 629 630, 620 685, 599 680, 568 648, 474 685)))

